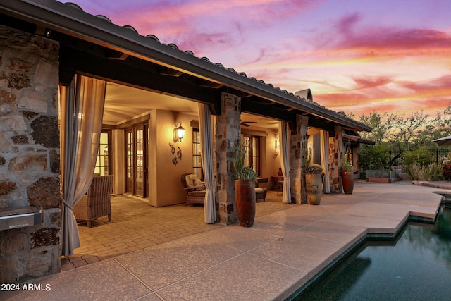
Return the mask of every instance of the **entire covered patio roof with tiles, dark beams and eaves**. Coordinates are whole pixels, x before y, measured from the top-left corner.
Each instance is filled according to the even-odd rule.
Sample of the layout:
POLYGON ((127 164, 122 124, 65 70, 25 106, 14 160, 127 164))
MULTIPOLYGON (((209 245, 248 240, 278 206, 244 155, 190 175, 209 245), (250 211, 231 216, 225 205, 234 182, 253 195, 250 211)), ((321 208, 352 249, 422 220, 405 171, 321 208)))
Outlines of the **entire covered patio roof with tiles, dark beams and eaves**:
POLYGON ((105 16, 92 16, 74 4, 58 1, 7 1, 0 7, 6 26, 43 35, 60 42, 60 83, 84 73, 110 82, 125 83, 157 94, 209 104, 221 113, 221 92, 242 98, 242 111, 295 124, 296 115, 309 116, 309 125, 333 130, 334 125, 370 131, 310 97, 300 97, 249 78, 221 63, 162 44, 154 35, 140 35, 131 26, 118 26, 105 16))

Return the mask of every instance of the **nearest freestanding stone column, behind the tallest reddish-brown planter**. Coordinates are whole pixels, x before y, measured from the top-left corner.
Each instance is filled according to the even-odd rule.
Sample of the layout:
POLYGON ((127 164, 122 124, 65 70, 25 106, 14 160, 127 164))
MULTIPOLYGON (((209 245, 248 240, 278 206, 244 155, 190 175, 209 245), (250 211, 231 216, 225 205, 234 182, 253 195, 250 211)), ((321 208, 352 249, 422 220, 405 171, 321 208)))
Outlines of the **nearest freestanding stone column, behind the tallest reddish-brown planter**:
POLYGON ((216 145, 214 166, 216 166, 216 208, 219 222, 224 225, 237 223, 235 205, 235 181, 233 165, 233 147, 240 143, 241 99, 233 94, 222 94, 221 115, 216 116, 216 145))

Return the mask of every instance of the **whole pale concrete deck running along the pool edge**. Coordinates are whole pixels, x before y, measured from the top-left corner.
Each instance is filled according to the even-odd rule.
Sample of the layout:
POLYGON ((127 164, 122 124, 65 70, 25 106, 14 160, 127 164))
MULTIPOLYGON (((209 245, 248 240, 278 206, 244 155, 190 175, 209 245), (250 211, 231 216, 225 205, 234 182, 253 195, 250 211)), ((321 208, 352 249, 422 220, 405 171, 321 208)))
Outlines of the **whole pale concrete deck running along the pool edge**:
MULTIPOLYGON (((324 195, 319 206, 269 204, 283 209, 257 214, 252 228, 167 233, 175 239, 31 282, 51 290, 1 292, 0 299, 285 300, 366 234, 396 233, 412 213, 433 218, 442 199, 438 188, 412 183, 355 184, 352 195, 324 195)), ((170 212, 164 219, 177 223, 170 212)))

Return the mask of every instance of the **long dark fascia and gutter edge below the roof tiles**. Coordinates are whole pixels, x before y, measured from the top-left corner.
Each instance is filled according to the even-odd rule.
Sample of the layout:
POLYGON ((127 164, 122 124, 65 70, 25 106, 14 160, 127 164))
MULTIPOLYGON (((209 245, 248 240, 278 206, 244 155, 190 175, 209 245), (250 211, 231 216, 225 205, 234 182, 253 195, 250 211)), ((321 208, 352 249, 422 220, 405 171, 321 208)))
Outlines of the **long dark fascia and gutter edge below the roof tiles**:
POLYGON ((172 49, 149 37, 144 37, 128 28, 109 23, 67 4, 53 0, 0 0, 0 4, 1 11, 8 11, 11 16, 20 16, 24 20, 37 23, 50 30, 57 30, 66 35, 137 56, 145 61, 159 63, 205 80, 221 83, 272 102, 311 113, 328 121, 340 123, 346 127, 364 131, 371 130, 367 125, 354 122, 350 118, 340 116, 322 106, 304 102, 294 95, 276 90, 272 85, 264 85, 257 80, 247 78, 245 75, 239 75, 178 49, 172 49))

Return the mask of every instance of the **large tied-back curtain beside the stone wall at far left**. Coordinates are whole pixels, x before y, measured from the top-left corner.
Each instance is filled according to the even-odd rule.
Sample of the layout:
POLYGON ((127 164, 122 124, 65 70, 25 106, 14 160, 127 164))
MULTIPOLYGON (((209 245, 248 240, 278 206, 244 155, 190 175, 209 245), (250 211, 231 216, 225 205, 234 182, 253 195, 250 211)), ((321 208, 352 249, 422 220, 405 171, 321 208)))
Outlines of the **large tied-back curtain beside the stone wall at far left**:
POLYGON ((80 247, 73 207, 89 189, 99 151, 106 82, 75 75, 60 86, 61 116, 61 255, 80 247))

